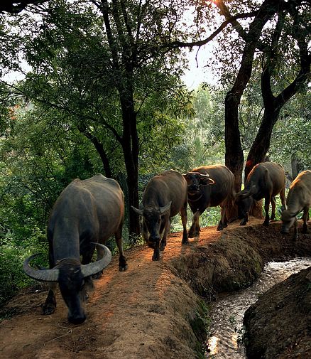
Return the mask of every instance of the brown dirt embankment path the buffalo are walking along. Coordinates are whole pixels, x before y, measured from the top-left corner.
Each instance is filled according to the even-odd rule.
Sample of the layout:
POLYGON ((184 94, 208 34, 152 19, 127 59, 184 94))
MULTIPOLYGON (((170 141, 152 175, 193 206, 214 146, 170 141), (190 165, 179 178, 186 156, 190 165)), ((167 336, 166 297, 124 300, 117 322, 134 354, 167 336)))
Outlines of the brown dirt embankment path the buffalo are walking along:
POLYGON ((42 316, 46 291, 21 293, 4 311, 13 318, 0 323, 1 358, 197 358, 204 340, 204 302, 219 291, 253 282, 264 262, 292 254, 311 255, 311 236, 293 245, 280 235, 280 223, 267 227, 251 220, 223 232, 204 228, 200 240, 181 245, 181 234, 168 238, 159 262, 143 246, 126 252, 127 272, 118 272, 117 256, 94 281, 87 321, 67 322, 60 295, 52 316, 42 316))

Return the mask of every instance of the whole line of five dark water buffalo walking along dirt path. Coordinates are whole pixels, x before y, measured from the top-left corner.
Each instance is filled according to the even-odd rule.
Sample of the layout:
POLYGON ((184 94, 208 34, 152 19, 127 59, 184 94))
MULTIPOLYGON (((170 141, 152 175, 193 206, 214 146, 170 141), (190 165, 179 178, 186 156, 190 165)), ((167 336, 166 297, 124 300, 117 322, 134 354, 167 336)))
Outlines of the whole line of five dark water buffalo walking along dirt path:
MULTIPOLYGON (((223 230, 236 218, 228 218, 227 208, 236 205, 241 225, 248 221, 254 201, 265 199, 266 217, 263 225, 275 218, 275 195, 280 195, 283 233, 294 226, 298 236, 296 216, 303 211, 302 232, 307 232, 311 205, 311 171, 300 173, 291 183, 285 203, 285 172, 283 166, 263 162, 253 167, 246 178, 243 191, 235 193, 234 175, 222 165, 202 166, 191 172, 165 171, 148 182, 139 208, 132 207, 142 218, 142 233, 153 260, 160 259, 166 245, 170 220, 180 213, 182 245, 188 238, 200 235, 200 215, 209 207, 220 205, 221 218, 217 230, 223 230), (268 210, 271 203, 272 213, 268 210), (187 205, 192 213, 192 225, 187 232, 187 205)), ((60 194, 48 221, 50 269, 30 266, 37 254, 25 260, 23 269, 29 277, 49 282, 50 290, 43 306, 44 314, 55 311, 57 284, 68 308, 71 323, 83 323, 86 316, 83 303, 87 290, 92 289, 92 278, 98 278, 111 261, 111 252, 104 243, 112 235, 119 249, 119 270, 127 269, 122 247, 124 223, 124 194, 119 183, 102 174, 84 181, 75 179, 60 194), (95 247, 97 262, 91 262, 95 247), (80 259, 81 256, 81 259, 80 259)))

